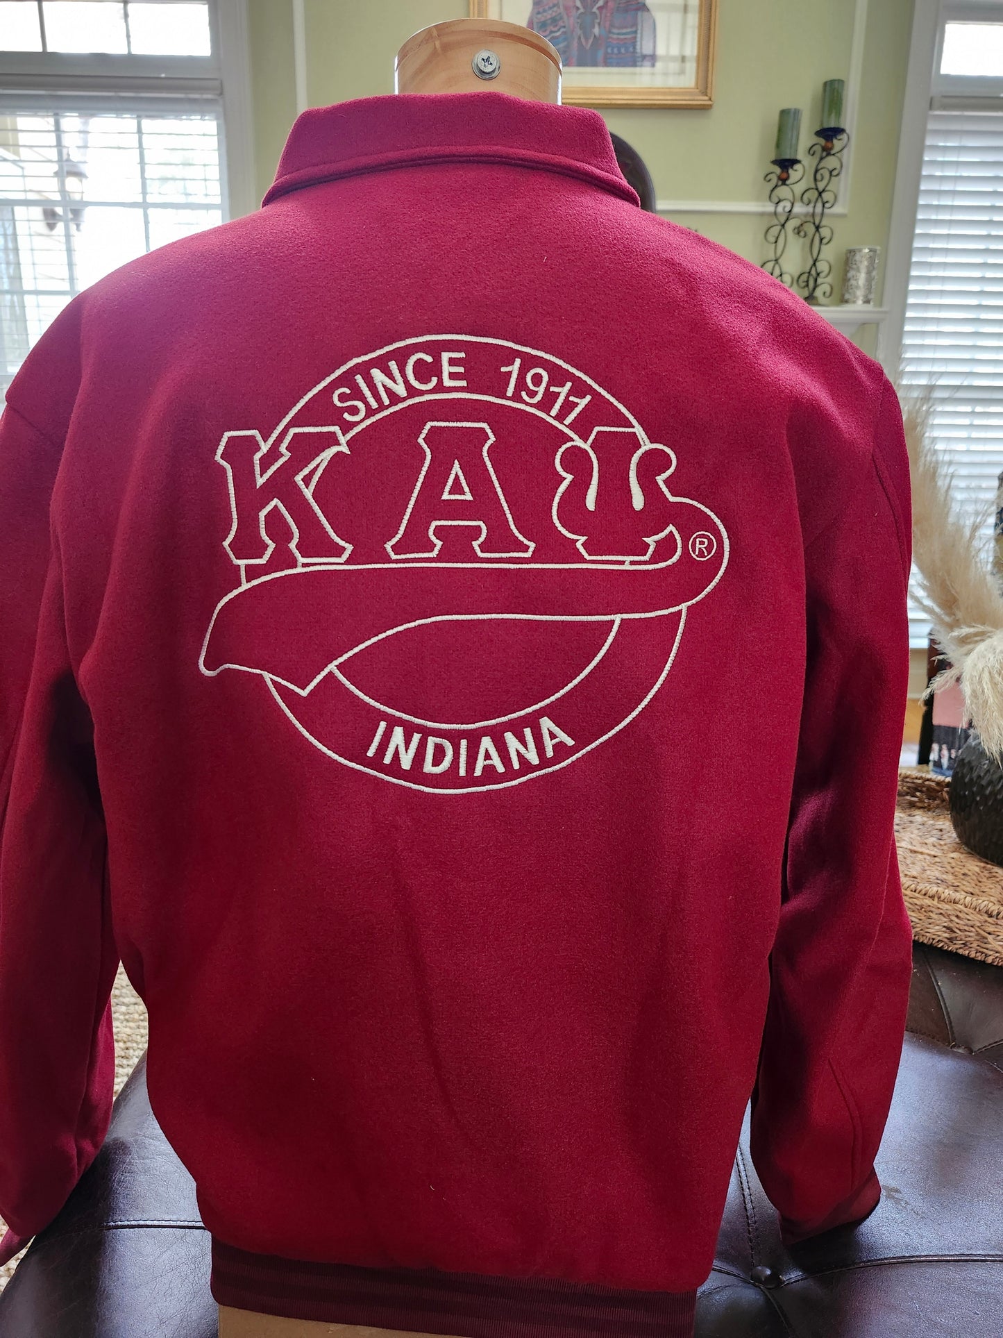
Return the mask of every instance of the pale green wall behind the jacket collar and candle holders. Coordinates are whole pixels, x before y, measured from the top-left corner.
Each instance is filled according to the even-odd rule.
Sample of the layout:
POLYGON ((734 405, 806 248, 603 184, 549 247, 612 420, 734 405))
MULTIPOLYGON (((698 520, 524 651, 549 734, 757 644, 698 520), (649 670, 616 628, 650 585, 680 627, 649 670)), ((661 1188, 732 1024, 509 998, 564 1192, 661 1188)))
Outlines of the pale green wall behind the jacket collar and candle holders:
MULTIPOLYGON (((765 202, 762 175, 780 107, 804 108, 804 154, 817 123, 822 80, 849 76, 855 16, 863 9, 849 211, 833 218, 830 253, 839 285, 847 246, 887 246, 912 4, 718 0, 714 106, 707 111, 607 108, 603 115, 643 155, 659 199, 710 205, 701 211, 670 211, 670 218, 758 264, 766 256, 762 233, 769 219, 748 210, 719 211, 710 202, 765 202)), ((310 106, 392 92, 393 56, 404 39, 425 24, 465 13, 465 0, 305 0, 310 106)), ((258 190, 263 194, 296 114, 293 0, 249 0, 249 15, 258 190)), ((802 246, 794 240, 796 261, 802 246)))

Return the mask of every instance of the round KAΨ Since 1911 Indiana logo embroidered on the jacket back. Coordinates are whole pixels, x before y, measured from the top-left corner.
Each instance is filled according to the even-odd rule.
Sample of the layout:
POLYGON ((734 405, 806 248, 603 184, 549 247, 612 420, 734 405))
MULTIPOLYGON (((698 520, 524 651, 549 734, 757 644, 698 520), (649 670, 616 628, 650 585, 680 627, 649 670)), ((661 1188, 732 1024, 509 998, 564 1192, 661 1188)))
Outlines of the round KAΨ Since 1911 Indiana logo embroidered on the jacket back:
POLYGON ((215 458, 239 575, 202 673, 259 674, 313 747, 416 789, 518 785, 610 739, 728 562, 670 447, 506 340, 353 359, 215 458))

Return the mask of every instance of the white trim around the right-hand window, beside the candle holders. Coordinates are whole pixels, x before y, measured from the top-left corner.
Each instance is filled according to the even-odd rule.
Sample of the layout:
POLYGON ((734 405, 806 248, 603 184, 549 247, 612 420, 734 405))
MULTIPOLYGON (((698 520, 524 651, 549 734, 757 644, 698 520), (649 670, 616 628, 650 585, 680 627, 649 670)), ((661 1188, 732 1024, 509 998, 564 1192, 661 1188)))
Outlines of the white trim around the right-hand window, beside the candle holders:
POLYGON ((1003 0, 915 0, 884 276, 888 318, 877 334, 879 361, 892 377, 897 375, 901 360, 923 149, 931 106, 948 107, 963 92, 968 107, 974 108, 975 99, 979 99, 983 110, 1003 110, 1003 79, 962 79, 939 74, 944 24, 950 20, 1003 21, 1003 0))

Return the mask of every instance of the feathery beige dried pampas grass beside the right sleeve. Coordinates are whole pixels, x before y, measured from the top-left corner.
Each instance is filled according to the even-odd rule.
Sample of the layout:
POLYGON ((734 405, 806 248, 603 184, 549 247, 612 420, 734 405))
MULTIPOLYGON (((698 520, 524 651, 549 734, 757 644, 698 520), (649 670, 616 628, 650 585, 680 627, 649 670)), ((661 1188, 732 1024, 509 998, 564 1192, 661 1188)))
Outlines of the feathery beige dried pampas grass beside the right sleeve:
POLYGON ((951 476, 929 436, 931 396, 903 396, 912 472, 912 557, 916 602, 951 668, 931 688, 960 682, 986 753, 1003 761, 1003 593, 983 527, 987 516, 959 514, 951 476))

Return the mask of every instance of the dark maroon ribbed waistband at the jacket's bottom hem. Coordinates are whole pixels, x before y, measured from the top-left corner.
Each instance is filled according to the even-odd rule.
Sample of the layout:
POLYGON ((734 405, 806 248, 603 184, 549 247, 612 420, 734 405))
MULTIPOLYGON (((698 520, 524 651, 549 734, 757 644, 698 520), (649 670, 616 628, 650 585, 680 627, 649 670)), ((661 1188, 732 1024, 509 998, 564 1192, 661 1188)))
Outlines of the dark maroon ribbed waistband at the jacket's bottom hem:
POLYGON ((693 1338, 695 1291, 622 1291, 551 1278, 360 1268, 249 1254, 213 1240, 221 1306, 289 1319, 457 1338, 693 1338))

